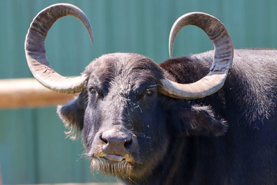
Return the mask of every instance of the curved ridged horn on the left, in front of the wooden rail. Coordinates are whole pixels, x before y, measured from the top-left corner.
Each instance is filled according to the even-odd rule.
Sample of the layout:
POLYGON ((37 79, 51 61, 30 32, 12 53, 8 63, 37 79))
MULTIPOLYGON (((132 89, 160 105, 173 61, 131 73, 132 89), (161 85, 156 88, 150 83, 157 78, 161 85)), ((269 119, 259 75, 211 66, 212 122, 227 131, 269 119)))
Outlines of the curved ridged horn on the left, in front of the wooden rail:
POLYGON ((71 4, 57 3, 48 6, 33 19, 26 35, 25 53, 30 71, 42 85, 53 91, 73 94, 87 88, 87 76, 65 77, 55 72, 46 58, 44 46, 48 30, 57 19, 66 15, 80 19, 89 32, 91 42, 93 42, 91 26, 84 12, 71 4))

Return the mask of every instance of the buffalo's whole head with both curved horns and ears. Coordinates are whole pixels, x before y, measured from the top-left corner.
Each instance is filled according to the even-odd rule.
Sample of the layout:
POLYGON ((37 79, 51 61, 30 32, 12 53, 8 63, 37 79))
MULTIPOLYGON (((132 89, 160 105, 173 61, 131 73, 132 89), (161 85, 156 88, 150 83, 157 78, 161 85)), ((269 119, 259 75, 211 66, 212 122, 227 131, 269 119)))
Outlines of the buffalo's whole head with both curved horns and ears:
MULTIPOLYGON (((91 167, 136 181, 161 165, 179 133, 221 135, 226 124, 211 107, 189 100, 209 96, 224 84, 233 59, 231 39, 219 20, 201 12, 180 17, 170 33, 170 57, 179 30, 202 28, 215 46, 210 73, 192 84, 179 84, 150 58, 134 53, 111 53, 91 62, 81 76, 64 77, 51 69, 44 41, 60 17, 73 15, 92 38, 87 17, 79 8, 61 3, 35 17, 26 36, 30 71, 45 87, 78 97, 59 106, 57 113, 72 130, 82 131, 91 167)), ((179 141, 184 142, 184 141, 179 141)))

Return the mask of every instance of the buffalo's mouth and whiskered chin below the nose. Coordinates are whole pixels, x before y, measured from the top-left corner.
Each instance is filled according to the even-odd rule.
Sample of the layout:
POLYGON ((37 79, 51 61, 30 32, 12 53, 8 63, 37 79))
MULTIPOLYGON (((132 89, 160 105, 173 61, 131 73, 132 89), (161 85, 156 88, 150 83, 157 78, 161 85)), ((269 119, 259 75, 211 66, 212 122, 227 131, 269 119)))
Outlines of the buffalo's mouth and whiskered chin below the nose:
POLYGON ((130 157, 106 154, 91 159, 91 173, 100 170, 103 174, 116 177, 129 177, 134 168, 134 161, 130 157))

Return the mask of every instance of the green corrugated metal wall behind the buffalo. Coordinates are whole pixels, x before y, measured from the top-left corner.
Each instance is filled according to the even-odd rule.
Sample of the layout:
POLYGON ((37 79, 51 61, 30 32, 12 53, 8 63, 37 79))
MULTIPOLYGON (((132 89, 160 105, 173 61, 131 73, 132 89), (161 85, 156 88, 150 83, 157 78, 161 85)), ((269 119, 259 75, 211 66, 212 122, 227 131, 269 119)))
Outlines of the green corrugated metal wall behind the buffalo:
MULTIPOLYGON (((91 21, 91 45, 73 17, 57 21, 48 33, 48 60, 56 71, 78 75, 104 53, 141 53, 161 62, 168 58, 168 35, 186 12, 202 11, 219 18, 235 48, 277 48, 277 1, 260 0, 1 0, 0 78, 27 78, 24 39, 33 17, 53 3, 73 3, 91 21)), ((206 35, 188 26, 178 35, 175 56, 213 49, 206 35)), ((5 88, 5 87, 0 87, 5 88)), ((0 110, 0 168, 3 184, 113 181, 91 177, 82 144, 65 139, 55 107, 0 110)))

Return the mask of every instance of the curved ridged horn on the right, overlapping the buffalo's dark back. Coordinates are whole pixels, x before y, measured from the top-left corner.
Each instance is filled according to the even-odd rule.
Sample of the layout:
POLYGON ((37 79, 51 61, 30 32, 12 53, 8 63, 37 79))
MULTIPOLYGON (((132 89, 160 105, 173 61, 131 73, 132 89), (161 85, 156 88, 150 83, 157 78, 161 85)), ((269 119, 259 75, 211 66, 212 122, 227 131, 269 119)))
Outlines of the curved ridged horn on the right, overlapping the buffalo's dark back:
POLYGON ((191 12, 179 17, 172 26, 169 38, 170 58, 172 58, 175 37, 179 30, 186 25, 195 25, 202 28, 213 42, 215 55, 210 73, 197 82, 190 84, 179 84, 165 78, 161 80, 161 91, 166 96, 173 98, 204 98, 215 93, 224 85, 233 62, 233 44, 220 20, 203 12, 191 12))

